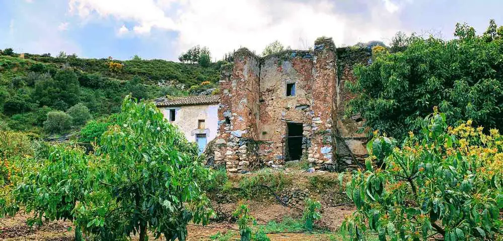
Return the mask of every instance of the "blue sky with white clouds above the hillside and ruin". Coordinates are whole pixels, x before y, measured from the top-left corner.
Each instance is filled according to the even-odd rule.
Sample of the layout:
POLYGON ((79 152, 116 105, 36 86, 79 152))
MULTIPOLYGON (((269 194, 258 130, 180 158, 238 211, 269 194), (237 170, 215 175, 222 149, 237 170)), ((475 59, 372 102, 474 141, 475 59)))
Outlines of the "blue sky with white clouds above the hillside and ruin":
POLYGON ((491 18, 503 24, 501 10, 502 0, 0 0, 0 48, 176 61, 199 44, 221 59, 276 39, 306 49, 319 36, 337 46, 397 31, 452 38, 457 22, 481 33, 491 18))

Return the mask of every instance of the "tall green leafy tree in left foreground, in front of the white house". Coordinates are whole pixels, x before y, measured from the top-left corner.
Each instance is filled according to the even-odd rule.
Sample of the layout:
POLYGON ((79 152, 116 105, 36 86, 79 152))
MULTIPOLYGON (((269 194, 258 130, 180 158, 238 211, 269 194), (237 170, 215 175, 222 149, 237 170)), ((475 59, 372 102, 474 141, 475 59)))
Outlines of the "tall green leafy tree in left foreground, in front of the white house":
POLYGON ((107 188, 76 208, 78 222, 104 239, 138 232, 146 240, 150 229, 156 237, 185 240, 189 221, 206 224, 212 215, 198 185, 210 173, 197 147, 153 103, 126 98, 116 122, 96 150, 107 188))

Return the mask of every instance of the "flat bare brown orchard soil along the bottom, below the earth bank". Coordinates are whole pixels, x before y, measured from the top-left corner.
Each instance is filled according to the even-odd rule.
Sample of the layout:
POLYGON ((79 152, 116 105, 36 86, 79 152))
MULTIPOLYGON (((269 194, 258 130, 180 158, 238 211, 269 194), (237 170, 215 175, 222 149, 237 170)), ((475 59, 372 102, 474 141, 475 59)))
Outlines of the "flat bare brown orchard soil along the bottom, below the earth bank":
MULTIPOLYGON (((251 210, 251 214, 256 218, 257 223, 265 224, 275 220, 280 222, 284 216, 300 218, 302 210, 300 208, 283 207, 279 204, 264 204, 262 202, 246 202, 251 210)), ((238 204, 226 204, 227 209, 235 209, 238 204)), ((353 211, 352 207, 325 207, 322 211, 322 219, 317 223, 323 228, 335 231, 345 215, 353 211)), ((63 241, 74 240, 74 228, 71 222, 48 222, 38 227, 30 228, 26 225, 29 218, 27 214, 18 214, 15 217, 0 219, 0 240, 45 240, 63 241), (71 230, 68 230, 71 227, 71 230)), ((189 241, 211 240, 210 236, 218 232, 226 233, 233 231, 236 235, 231 240, 239 240, 237 225, 233 223, 221 222, 210 223, 206 227, 190 224, 187 226, 189 241)), ((271 240, 330 240, 329 234, 306 234, 306 233, 275 233, 268 234, 271 240)), ((333 235, 332 235, 333 236, 333 235)), ((151 235, 152 237, 152 235, 151 235)), ((133 238, 133 240, 137 240, 133 238)))

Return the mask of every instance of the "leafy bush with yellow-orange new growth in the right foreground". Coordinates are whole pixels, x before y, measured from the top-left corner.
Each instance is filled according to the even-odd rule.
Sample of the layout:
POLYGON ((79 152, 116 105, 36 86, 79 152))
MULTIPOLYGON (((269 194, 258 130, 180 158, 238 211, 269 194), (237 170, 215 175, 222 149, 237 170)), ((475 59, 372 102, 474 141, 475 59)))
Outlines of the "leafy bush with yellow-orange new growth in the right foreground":
POLYGON ((369 228, 381 240, 500 235, 503 136, 471 124, 448 127, 436 110, 423 120, 422 138, 410 133, 402 148, 386 136, 372 139, 367 170, 353 171, 346 184, 357 210, 343 222, 342 234, 364 239, 369 228))

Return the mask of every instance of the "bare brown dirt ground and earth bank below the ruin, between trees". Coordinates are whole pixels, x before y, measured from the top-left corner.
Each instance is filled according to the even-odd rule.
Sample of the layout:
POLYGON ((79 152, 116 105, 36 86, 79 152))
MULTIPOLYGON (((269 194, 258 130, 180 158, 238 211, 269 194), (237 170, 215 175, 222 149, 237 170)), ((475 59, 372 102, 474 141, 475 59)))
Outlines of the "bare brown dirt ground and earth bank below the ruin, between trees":
MULTIPOLYGON (((341 194, 338 185, 337 173, 306 173, 296 170, 287 170, 283 177, 290 180, 291 187, 300 188, 302 190, 311 190, 311 198, 319 200, 323 209, 321 210, 322 219, 317 221, 318 227, 323 228, 327 232, 337 232, 344 217, 351 214, 354 207, 341 206, 330 207, 336 204, 347 202, 344 200, 344 195, 341 194)), ((254 174, 249 174, 252 176, 254 174)), ((229 179, 234 185, 237 185, 241 179, 247 175, 235 174, 230 175, 229 179)), ((288 216, 294 219, 302 217, 303 205, 293 207, 284 207, 276 202, 273 196, 265 199, 252 201, 234 200, 231 203, 221 204, 223 210, 228 213, 235 210, 239 204, 247 204, 250 208, 251 215, 255 217, 259 225, 266 224, 274 220, 281 222, 283 217, 288 216)), ((217 203, 213 204, 216 208, 217 203)), ((42 226, 29 227, 26 225, 26 220, 30 216, 28 214, 19 213, 15 217, 0 219, 0 240, 74 240, 74 226, 71 222, 47 222, 42 226)), ((189 224, 188 239, 194 240, 211 240, 210 236, 220 233, 235 233, 230 240, 239 240, 239 230, 235 222, 212 222, 206 227, 200 225, 189 224)), ((271 240, 339 240, 337 234, 329 233, 273 233, 267 234, 271 240)), ((150 235, 152 238, 153 235, 150 235)), ((133 237, 132 240, 137 240, 138 237, 133 237)))

